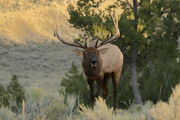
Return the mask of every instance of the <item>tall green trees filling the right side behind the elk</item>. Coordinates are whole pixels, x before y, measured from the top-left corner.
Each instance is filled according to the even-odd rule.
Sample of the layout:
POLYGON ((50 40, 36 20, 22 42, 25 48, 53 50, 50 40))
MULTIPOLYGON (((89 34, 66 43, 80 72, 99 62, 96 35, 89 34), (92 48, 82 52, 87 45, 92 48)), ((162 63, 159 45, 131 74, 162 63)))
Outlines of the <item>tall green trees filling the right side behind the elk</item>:
POLYGON ((123 51, 125 61, 118 101, 167 101, 180 78, 179 1, 117 1, 102 11, 103 3, 79 0, 77 5, 70 5, 69 22, 89 36, 105 39, 109 32, 113 33, 110 13, 119 16, 121 37, 114 44, 123 51), (122 14, 114 11, 120 7, 122 14))

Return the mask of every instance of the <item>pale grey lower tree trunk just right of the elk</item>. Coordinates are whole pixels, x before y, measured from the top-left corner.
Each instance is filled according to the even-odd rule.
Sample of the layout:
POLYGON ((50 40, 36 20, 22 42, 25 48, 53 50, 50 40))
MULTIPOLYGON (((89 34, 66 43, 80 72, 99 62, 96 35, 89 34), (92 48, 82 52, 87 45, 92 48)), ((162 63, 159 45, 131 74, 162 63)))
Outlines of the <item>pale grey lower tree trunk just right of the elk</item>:
POLYGON ((135 103, 143 104, 137 81, 137 49, 134 47, 131 49, 131 85, 135 103))

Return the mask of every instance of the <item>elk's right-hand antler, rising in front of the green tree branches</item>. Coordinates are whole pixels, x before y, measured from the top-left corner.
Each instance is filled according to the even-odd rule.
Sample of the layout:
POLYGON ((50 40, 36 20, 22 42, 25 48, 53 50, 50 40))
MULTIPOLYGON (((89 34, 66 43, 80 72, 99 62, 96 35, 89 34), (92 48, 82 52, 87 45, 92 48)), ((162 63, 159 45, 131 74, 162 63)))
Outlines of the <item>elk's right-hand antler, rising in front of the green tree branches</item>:
MULTIPOLYGON (((115 39, 120 37, 120 32, 119 32, 119 27, 118 27, 118 20, 115 20, 113 17, 112 17, 112 19, 113 19, 114 27, 116 29, 116 33, 112 37, 110 37, 107 40, 104 40, 103 42, 101 42, 99 45, 96 45, 95 46, 96 48, 98 48, 98 47, 100 47, 102 45, 105 45, 107 43, 110 43, 113 40, 115 40, 115 39)), ((98 43, 98 41, 97 41, 97 43, 98 43)))

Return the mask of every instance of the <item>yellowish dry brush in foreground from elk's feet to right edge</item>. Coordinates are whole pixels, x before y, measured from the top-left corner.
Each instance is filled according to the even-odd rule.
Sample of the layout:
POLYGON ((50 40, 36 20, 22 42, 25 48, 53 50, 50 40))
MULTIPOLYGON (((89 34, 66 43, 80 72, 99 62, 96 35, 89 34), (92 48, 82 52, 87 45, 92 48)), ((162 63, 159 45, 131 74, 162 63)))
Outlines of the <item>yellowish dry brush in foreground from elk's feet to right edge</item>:
POLYGON ((132 105, 128 110, 108 108, 102 98, 97 99, 94 109, 81 106, 81 116, 85 120, 179 120, 180 119, 180 84, 177 85, 169 102, 158 102, 156 105, 147 102, 145 105, 132 105))

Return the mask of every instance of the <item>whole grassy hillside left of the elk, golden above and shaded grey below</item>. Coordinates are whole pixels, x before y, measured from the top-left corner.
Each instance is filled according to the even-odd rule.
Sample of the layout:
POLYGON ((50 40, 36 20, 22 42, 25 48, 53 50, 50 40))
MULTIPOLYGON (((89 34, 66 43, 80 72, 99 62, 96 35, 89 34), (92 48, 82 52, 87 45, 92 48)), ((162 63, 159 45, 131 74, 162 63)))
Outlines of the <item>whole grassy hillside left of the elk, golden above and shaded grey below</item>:
POLYGON ((25 87, 57 92, 71 63, 79 64, 73 48, 53 36, 58 11, 64 39, 72 41, 79 34, 68 23, 68 4, 68 0, 0 0, 0 83, 7 84, 15 74, 25 87))

